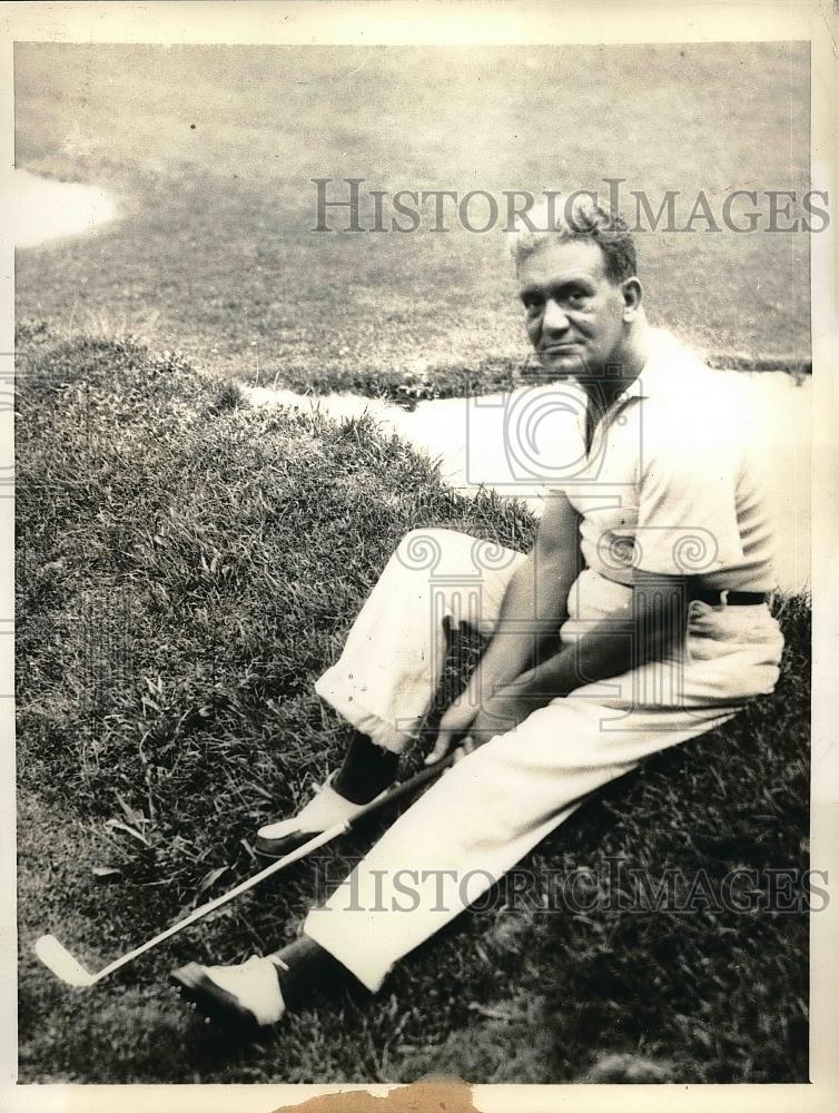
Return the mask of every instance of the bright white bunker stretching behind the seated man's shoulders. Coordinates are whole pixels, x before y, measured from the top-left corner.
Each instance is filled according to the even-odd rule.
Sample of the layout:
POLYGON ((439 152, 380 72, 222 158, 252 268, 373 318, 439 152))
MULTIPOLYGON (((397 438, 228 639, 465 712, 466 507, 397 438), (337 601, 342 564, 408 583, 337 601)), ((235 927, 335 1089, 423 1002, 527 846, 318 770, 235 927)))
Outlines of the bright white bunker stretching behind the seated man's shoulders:
MULTIPOLYGON (((719 374, 730 377, 732 390, 746 401, 752 417, 752 444, 764 470, 779 525, 778 585, 786 591, 805 590, 810 585, 811 380, 798 383, 782 372, 719 374)), ((572 407, 566 414, 557 412, 557 395, 552 387, 506 396, 420 402, 411 412, 355 394, 313 397, 251 387, 248 397, 254 406, 319 408, 335 418, 369 414, 384 431, 397 433, 436 461, 446 483, 465 494, 484 486, 504 496, 520 498, 536 514, 542 510, 539 484, 522 477, 527 474, 527 459, 545 459, 545 436, 550 431, 555 442, 563 422, 567 422, 567 436, 561 437, 564 444, 552 445, 550 459, 557 465, 569 464, 579 452, 572 407), (513 439, 511 430, 515 432, 513 439), (511 440, 524 445, 523 450, 505 451, 511 440)))

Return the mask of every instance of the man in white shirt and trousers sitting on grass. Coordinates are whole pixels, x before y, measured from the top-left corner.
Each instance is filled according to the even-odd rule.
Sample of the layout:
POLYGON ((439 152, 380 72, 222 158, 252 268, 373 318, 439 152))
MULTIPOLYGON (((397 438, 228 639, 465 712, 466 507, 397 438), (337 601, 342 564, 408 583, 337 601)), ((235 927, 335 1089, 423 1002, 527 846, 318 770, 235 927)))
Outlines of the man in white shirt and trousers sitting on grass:
POLYGON ((582 463, 552 491, 527 555, 447 530, 403 540, 316 684, 354 728, 344 762, 297 816, 259 831, 258 849, 279 856, 393 784, 461 623, 488 642, 430 759, 475 747, 297 942, 175 973, 219 1021, 272 1025, 338 976, 377 991, 583 796, 778 679, 767 503, 724 377, 649 327, 629 230, 588 198, 551 233, 521 230, 514 256, 546 377, 588 398, 582 463))

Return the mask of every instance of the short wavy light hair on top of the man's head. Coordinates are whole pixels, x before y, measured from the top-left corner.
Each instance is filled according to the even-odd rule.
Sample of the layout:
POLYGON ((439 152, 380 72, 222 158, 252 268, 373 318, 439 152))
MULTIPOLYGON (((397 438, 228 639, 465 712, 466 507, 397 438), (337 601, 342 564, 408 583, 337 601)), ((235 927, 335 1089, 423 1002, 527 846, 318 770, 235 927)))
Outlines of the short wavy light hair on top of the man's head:
POLYGON ((555 239, 588 239, 596 244, 605 259, 606 275, 615 285, 634 277, 636 273, 635 244, 628 224, 616 213, 601 208, 590 194, 578 195, 570 207, 556 204, 553 214, 545 204, 526 214, 526 217, 516 218, 510 238, 510 252, 516 269, 542 244, 555 239), (536 230, 532 230, 525 220, 530 220, 536 230))

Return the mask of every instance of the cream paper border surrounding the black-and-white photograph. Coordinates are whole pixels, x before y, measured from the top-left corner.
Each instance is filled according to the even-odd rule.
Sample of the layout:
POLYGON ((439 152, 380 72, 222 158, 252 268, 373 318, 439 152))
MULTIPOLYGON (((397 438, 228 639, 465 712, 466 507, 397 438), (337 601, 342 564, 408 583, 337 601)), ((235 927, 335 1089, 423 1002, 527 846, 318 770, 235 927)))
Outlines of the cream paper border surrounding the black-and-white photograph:
MULTIPOLYGON (((811 168, 812 189, 837 196, 837 125, 830 106, 837 91, 839 8, 832 0, 791 2, 646 2, 592 0, 589 3, 475 2, 150 2, 150 3, 2 3, 0 57, 0 174, 2 189, 11 188, 13 165, 12 43, 53 42, 180 42, 276 45, 549 45, 747 42, 807 40, 811 45, 811 168)), ((771 110, 771 106, 767 107, 771 110)), ((3 194, 6 196, 6 193, 3 194)), ((832 219, 836 227, 837 213, 832 219)), ((811 866, 839 876, 839 747, 833 746, 837 715, 836 639, 839 623, 839 503, 837 469, 837 258, 836 235, 811 237, 811 328, 813 365, 813 515, 811 582, 813 597, 813 706, 811 781, 811 866)), ((0 373, 13 359, 13 248, 8 235, 0 244, 0 373)), ((11 416, 3 411, 2 418, 11 416)), ((9 424, 3 427, 8 434, 9 424)), ((13 463, 11 437, 0 440, 2 466, 13 463)), ((0 499, 0 534, 10 559, 0 580, 2 632, 13 614, 13 500, 0 499)), ((13 690, 11 638, 0 639, 0 692, 13 690)), ((13 700, 0 701, 2 754, 0 782, 0 885, 6 899, 0 913, 0 1110, 10 1113, 51 1110, 147 1110, 191 1113, 219 1109, 263 1111, 296 1105, 310 1097, 349 1091, 384 1096, 393 1086, 336 1085, 16 1085, 16 920, 14 920, 14 754, 13 700)), ((476 1109, 485 1113, 537 1113, 542 1110, 611 1110, 620 1101, 626 1113, 643 1110, 736 1110, 746 1113, 794 1107, 801 1113, 839 1107, 839 899, 811 916, 810 1075, 811 1083, 788 1085, 477 1085, 476 1109), (619 1096, 616 1096, 618 1091, 619 1096)), ((330 1106, 348 1111, 346 1096, 330 1106)), ((436 1113, 436 1110, 435 1110, 436 1113)))

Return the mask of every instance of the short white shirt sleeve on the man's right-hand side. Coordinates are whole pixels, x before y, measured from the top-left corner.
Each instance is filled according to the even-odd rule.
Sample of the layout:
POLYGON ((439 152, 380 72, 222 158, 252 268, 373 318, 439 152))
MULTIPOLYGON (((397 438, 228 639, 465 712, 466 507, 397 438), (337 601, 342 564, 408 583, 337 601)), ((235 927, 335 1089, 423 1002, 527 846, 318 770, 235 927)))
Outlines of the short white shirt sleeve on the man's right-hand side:
POLYGON ((634 564, 708 575, 742 563, 740 450, 724 414, 664 406, 644 423, 634 564))

